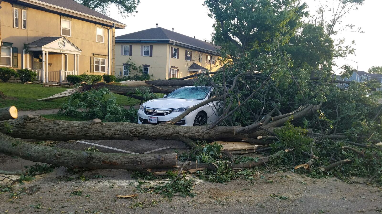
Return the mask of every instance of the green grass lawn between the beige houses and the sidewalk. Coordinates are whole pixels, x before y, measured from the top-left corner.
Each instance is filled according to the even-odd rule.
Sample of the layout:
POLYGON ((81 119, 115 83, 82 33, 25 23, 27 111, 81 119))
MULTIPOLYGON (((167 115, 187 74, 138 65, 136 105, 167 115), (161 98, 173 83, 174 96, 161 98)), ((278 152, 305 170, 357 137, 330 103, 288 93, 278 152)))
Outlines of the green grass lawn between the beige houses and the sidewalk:
MULTIPOLYGON (((65 91, 68 88, 45 88, 40 84, 22 84, 22 83, 0 83, 0 91, 6 98, 0 99, 0 108, 15 105, 19 111, 59 109, 68 97, 55 99, 51 101, 37 101, 37 99, 52 96, 65 91)), ((128 99, 128 97, 113 94, 120 105, 134 105, 138 100, 128 99)))

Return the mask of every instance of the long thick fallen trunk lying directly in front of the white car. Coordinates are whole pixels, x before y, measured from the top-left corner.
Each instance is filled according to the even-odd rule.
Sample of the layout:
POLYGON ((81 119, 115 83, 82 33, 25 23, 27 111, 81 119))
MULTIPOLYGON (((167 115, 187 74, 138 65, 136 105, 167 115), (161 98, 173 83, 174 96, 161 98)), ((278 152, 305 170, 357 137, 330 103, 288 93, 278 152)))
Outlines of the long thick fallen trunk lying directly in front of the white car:
MULTIPOLYGON (((32 119, 26 116, 7 121, 12 127, 12 133, 0 121, 0 132, 12 137, 23 139, 68 141, 80 139, 96 140, 137 140, 164 139, 180 140, 183 137, 204 141, 241 141, 245 137, 264 136, 263 130, 252 133, 234 135, 235 129, 243 127, 216 126, 176 126, 176 125, 144 125, 128 122, 95 123, 94 121, 50 120, 40 116, 32 119), (208 129, 208 130, 207 130, 208 129), (168 130, 172 130, 169 132, 168 130)), ((273 129, 270 129, 271 131, 273 129)))

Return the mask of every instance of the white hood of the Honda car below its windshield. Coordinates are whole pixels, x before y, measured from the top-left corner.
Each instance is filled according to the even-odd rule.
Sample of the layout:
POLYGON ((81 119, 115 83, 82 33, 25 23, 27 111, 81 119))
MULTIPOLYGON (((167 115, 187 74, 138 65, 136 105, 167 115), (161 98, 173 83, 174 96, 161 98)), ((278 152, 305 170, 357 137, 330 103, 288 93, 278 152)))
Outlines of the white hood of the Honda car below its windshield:
POLYGON ((202 101, 200 99, 160 98, 149 100, 143 105, 152 109, 176 109, 193 106, 202 101))

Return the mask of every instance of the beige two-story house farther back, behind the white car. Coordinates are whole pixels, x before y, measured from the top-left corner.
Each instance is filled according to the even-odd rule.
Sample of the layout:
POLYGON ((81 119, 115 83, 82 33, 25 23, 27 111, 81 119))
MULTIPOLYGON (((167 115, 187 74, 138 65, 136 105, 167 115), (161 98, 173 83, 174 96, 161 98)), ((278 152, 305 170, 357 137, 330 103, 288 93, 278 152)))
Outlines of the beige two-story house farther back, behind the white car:
POLYGON ((141 66, 152 79, 214 72, 222 65, 218 46, 162 27, 121 35, 115 42, 116 76, 134 74, 129 62, 141 66))

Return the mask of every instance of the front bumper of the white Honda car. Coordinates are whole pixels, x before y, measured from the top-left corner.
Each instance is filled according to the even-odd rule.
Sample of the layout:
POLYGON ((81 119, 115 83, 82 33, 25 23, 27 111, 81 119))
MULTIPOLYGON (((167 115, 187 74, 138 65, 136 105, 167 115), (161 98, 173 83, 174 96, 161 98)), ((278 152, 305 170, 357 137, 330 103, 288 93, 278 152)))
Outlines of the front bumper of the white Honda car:
MULTIPOLYGON (((159 115, 147 115, 146 113, 144 113, 144 111, 139 109, 138 110, 138 123, 139 124, 152 124, 152 125, 159 124, 159 123, 164 123, 166 121, 172 120, 175 117, 178 117, 179 115, 181 115, 181 113, 183 113, 183 112, 180 112, 180 113, 170 113, 168 115, 163 115, 163 116, 159 116, 159 115), (158 118, 158 123, 149 123, 148 122, 149 117, 157 117, 158 118)), ((196 116, 195 113, 191 112, 185 118, 180 120, 178 123, 175 123, 175 125, 193 126, 194 125, 195 116, 196 116)))

